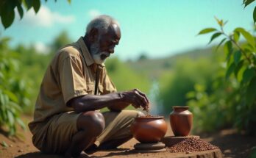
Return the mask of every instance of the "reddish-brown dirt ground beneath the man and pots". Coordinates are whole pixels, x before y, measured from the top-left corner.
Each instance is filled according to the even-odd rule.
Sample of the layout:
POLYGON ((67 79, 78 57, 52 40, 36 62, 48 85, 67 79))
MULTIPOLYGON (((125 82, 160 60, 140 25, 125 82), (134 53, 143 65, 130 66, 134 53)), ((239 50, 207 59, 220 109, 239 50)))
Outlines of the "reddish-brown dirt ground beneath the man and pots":
MULTIPOLYGON (((29 122, 31 118, 25 117, 24 121, 29 122)), ((7 134, 0 132, 0 158, 49 158, 60 157, 58 155, 42 154, 32 144, 32 134, 27 129, 25 132, 19 130, 20 138, 15 137, 8 138, 7 134), (6 143, 4 145, 4 143, 6 143)), ((171 128, 168 126, 168 132, 166 136, 172 135, 171 128)), ((202 134, 200 137, 203 140, 207 140, 215 146, 221 149, 223 157, 247 157, 252 147, 256 146, 256 137, 249 137, 243 134, 239 134, 234 129, 224 129, 220 132, 213 134, 202 134)), ((91 157, 181 157, 181 154, 171 154, 168 151, 158 153, 139 153, 133 148, 137 140, 132 139, 129 142, 120 146, 117 150, 109 151, 97 151, 90 154, 91 157)), ((183 154, 184 156, 184 154, 183 154)), ((190 157, 190 154, 186 154, 186 157, 190 157)))

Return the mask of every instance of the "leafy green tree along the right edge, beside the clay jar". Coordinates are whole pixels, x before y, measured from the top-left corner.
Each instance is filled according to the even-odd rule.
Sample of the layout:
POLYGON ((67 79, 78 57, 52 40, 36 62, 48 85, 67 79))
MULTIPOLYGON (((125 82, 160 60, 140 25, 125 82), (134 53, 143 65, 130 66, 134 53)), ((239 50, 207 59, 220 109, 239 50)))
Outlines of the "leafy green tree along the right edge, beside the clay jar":
MULTIPOLYGON (((243 0, 244 7, 248 6, 255 0, 243 0)), ((256 7, 253 12, 254 23, 256 21, 256 7)), ((222 78, 225 82, 215 87, 215 93, 208 94, 204 90, 195 88, 193 96, 203 96, 201 98, 193 98, 194 105, 201 105, 199 109, 205 112, 207 109, 218 104, 216 109, 221 109, 219 113, 224 113, 225 117, 230 116, 230 122, 238 129, 246 130, 248 134, 256 134, 256 42, 255 37, 245 29, 235 28, 230 34, 224 32, 224 26, 227 21, 216 18, 219 29, 206 28, 199 32, 199 35, 213 33, 209 43, 218 37, 223 37, 219 46, 224 44, 224 56, 226 63, 225 73, 222 78), (245 41, 241 41, 241 36, 245 41), (227 85, 231 85, 228 87, 227 85), (225 88, 228 88, 225 90, 225 88), (224 95, 219 96, 220 92, 227 91, 224 95), (221 101, 222 100, 222 101, 221 101), (205 103, 204 103, 205 101, 205 103), (220 103, 224 103, 221 106, 220 103)), ((195 106, 194 106, 195 107, 195 106)), ((209 112, 213 112, 213 108, 209 112)), ((218 114, 219 114, 218 113, 218 114)), ((205 115, 205 121, 208 121, 205 115)), ((224 120, 216 118, 213 123, 223 123, 224 120)), ((201 119, 204 120, 204 119, 201 119)), ((227 123, 227 122, 226 122, 227 123)))

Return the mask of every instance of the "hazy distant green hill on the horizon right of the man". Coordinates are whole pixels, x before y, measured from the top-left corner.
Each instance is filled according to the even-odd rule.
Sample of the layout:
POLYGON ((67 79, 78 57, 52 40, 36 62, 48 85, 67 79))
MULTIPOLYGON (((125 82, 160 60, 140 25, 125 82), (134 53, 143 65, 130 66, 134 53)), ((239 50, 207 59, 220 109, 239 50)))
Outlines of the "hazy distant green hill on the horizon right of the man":
POLYGON ((166 71, 169 72, 179 58, 197 59, 199 57, 210 57, 212 54, 212 48, 195 49, 193 51, 185 51, 179 54, 174 54, 170 57, 128 61, 126 63, 134 71, 143 73, 144 75, 149 76, 151 79, 157 79, 162 73, 165 73, 166 71))

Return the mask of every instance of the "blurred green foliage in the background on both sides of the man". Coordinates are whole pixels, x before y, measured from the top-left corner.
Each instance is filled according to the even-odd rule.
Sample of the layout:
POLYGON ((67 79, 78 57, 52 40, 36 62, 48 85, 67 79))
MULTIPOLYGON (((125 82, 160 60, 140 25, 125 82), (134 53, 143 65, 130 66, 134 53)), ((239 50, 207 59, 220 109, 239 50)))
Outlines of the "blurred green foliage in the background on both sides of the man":
MULTIPOLYGON (((108 74, 118 90, 138 88, 148 95, 157 82, 154 102, 163 104, 161 114, 168 116, 173 106, 189 106, 193 132, 232 127, 256 134, 255 37, 242 28, 227 35, 224 21, 217 22, 220 30, 207 28, 199 34, 213 32, 210 41, 223 35, 224 46, 218 50, 213 46, 163 59, 149 59, 141 52, 138 60, 126 62, 112 57, 106 62, 108 74)), ((15 134, 16 124, 24 127, 21 113, 32 115, 51 58, 71 39, 63 31, 43 52, 22 44, 10 47, 9 41, 0 40, 0 125, 15 134)))

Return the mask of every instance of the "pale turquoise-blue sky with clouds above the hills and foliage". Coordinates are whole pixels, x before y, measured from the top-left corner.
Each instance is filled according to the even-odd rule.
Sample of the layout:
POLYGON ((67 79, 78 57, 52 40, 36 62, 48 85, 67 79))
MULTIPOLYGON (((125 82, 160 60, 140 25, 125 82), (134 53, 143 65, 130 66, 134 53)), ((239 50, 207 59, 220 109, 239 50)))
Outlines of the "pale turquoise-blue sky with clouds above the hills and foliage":
POLYGON ((65 0, 42 1, 38 15, 29 10, 22 20, 16 15, 13 26, 1 35, 12 37, 12 45, 35 44, 47 49, 63 30, 76 41, 85 35, 85 27, 96 15, 113 16, 121 24, 122 37, 115 57, 134 60, 142 52, 151 58, 168 57, 207 46, 210 35, 196 34, 206 27, 218 27, 214 16, 228 20, 230 32, 241 26, 252 31, 255 2, 243 9, 243 0, 65 0))

